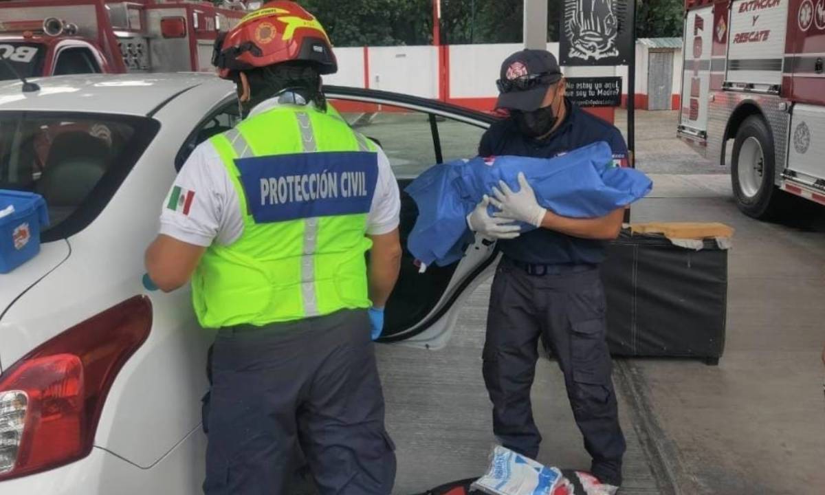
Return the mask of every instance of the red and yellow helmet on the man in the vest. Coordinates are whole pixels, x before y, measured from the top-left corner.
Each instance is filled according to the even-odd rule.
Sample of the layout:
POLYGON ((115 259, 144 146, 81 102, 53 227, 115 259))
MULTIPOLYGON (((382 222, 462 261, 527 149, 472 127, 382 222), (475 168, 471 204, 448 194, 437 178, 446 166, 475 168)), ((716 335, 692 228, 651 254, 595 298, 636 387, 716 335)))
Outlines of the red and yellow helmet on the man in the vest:
POLYGON ((316 64, 322 74, 335 73, 338 64, 323 26, 295 2, 267 2, 243 17, 237 26, 218 35, 212 64, 221 78, 233 72, 290 61, 316 64))

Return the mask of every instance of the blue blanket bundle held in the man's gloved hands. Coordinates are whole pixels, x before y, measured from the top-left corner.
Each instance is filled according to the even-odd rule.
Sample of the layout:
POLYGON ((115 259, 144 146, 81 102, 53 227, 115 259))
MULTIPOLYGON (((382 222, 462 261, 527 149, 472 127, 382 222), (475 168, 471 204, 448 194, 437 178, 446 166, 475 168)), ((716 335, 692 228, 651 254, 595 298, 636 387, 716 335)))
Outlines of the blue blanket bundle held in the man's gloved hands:
MULTIPOLYGON (((455 160, 427 169, 405 191, 418 206, 418 218, 408 249, 427 265, 454 263, 472 242, 466 217, 492 195, 499 180, 518 191, 516 177, 524 172, 539 204, 566 217, 593 218, 629 205, 647 195, 653 182, 632 168, 613 166, 610 146, 590 144, 556 158, 496 157, 455 160)), ((490 206, 491 213, 495 209, 490 206)), ((522 232, 535 229, 522 224, 522 232)))

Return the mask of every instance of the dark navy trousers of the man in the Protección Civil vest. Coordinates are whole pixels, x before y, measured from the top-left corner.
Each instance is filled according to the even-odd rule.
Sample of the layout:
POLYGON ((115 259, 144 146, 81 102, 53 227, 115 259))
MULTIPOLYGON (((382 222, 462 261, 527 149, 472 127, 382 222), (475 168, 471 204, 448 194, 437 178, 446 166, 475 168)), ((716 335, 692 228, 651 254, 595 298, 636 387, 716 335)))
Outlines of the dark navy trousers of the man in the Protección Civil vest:
POLYGON ((392 491, 394 445, 365 310, 222 328, 211 373, 206 495, 286 494, 299 449, 322 495, 392 491))

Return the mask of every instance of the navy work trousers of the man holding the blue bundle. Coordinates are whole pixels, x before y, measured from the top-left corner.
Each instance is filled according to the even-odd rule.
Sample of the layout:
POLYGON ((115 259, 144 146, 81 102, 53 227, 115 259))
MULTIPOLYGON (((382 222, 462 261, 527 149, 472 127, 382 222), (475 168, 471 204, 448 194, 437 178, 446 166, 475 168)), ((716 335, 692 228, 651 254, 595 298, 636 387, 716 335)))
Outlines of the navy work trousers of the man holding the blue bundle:
POLYGON ((493 281, 483 351, 493 432, 507 448, 533 459, 538 455, 541 435, 533 420, 530 388, 541 337, 564 374, 573 417, 592 456, 592 474, 618 486, 625 436, 610 379, 599 271, 589 266, 546 268, 543 275, 530 275, 505 258, 493 281))

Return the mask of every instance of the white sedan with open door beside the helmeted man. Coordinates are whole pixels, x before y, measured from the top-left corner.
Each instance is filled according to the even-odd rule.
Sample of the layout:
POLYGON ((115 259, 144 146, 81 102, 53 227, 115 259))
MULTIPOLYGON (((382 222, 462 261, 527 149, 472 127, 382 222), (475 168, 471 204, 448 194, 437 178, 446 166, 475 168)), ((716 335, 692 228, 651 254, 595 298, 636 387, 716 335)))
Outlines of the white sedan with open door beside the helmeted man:
MULTIPOLYGON (((0 189, 40 193, 51 217, 39 256, 0 275, 0 493, 200 493, 213 334, 196 324, 188 288, 144 286, 144 249, 176 168, 238 120, 233 86, 197 74, 35 82, 36 92, 0 85, 0 189)), ((417 97, 326 92, 383 145, 402 188, 474 155, 494 120, 417 97)), ((404 243, 415 218, 404 195, 404 243)), ((477 243, 419 273, 405 253, 383 340, 443 347, 495 259, 477 243)))

